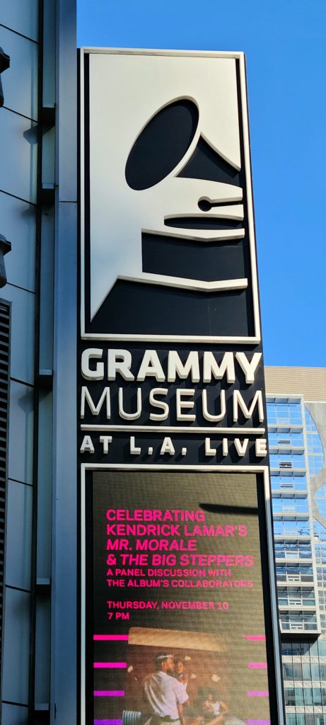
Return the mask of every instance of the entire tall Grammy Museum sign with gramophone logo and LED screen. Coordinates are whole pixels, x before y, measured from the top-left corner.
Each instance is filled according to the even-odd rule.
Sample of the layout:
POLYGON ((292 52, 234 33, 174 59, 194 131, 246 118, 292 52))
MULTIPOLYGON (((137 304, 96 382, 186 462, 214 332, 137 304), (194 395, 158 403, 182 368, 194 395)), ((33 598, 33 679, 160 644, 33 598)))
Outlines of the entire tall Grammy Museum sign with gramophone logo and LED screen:
POLYGON ((80 60, 81 722, 276 723, 243 56, 80 60))

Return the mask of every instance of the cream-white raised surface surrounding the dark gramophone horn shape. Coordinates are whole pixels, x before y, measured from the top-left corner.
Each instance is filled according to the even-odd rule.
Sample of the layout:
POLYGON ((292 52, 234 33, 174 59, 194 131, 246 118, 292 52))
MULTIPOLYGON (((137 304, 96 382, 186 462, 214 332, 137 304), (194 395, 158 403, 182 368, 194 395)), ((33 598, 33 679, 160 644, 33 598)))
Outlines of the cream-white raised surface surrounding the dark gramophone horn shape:
POLYGON ((173 227, 173 218, 243 221, 243 190, 231 183, 178 177, 201 136, 235 170, 241 166, 234 59, 96 55, 90 57, 91 318, 117 279, 200 291, 245 289, 246 278, 204 281, 143 271, 142 233, 180 240, 242 239, 244 228, 173 227), (168 83, 167 83, 168 76, 168 83), (178 99, 198 108, 198 125, 175 168, 151 188, 128 186, 125 165, 154 115, 178 99), (209 211, 202 199, 218 204, 209 211), (167 221, 170 220, 169 225, 167 221))

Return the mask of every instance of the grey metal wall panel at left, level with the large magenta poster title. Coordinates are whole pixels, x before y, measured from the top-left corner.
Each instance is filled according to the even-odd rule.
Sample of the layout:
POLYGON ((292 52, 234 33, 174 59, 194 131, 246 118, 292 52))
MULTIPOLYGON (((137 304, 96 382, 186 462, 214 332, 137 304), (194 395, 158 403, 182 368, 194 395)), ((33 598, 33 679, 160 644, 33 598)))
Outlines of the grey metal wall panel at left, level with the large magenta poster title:
POLYGON ((30 589, 32 496, 31 486, 8 481, 6 585, 20 589, 30 589))

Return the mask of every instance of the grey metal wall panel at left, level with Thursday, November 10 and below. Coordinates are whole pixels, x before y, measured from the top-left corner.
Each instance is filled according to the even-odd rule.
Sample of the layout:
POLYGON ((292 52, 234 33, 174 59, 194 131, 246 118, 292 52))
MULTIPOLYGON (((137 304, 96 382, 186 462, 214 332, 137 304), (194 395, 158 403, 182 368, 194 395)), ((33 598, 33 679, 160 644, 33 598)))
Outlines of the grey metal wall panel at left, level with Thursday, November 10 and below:
POLYGON ((30 594, 6 587, 2 699, 28 704, 30 594))

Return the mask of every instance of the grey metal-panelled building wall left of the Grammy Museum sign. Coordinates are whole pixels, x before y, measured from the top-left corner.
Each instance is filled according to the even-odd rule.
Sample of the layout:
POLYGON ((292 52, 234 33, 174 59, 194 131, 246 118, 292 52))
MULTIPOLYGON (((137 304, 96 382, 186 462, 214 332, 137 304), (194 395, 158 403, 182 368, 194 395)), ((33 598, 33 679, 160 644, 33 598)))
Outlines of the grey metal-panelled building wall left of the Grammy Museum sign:
POLYGON ((75 430, 75 46, 75 0, 1 4, 0 240, 12 243, 0 290, 4 725, 63 724, 75 711, 77 584, 63 545, 76 528, 75 449, 64 445, 75 430))

